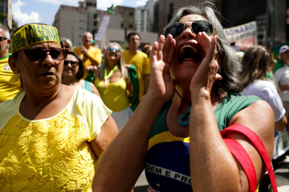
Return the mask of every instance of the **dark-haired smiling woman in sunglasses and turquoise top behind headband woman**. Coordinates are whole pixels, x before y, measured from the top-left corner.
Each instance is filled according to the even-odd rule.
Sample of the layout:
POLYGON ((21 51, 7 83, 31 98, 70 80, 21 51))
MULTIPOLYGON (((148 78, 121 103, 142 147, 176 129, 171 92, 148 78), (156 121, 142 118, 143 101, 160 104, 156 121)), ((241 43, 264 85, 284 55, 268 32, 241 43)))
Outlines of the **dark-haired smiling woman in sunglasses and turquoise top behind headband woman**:
POLYGON ((84 76, 84 66, 81 59, 74 52, 67 53, 67 57, 64 59, 62 75, 63 80, 61 82, 63 84, 72 86, 80 85, 81 88, 100 97, 94 84, 82 79, 84 76))

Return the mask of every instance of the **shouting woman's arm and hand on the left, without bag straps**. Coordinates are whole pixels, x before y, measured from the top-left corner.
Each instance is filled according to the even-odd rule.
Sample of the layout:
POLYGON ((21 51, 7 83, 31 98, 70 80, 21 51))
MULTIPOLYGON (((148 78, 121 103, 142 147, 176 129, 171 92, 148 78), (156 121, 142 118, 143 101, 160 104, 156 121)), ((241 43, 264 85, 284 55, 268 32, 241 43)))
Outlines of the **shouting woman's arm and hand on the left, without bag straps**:
POLYGON ((148 93, 97 162, 92 185, 94 191, 130 191, 144 169, 150 128, 163 103, 174 94, 174 82, 168 73, 170 66, 164 64, 162 58, 171 61, 172 57, 167 55, 173 55, 168 53, 174 51, 175 41, 172 38, 166 41, 171 46, 166 46, 168 49, 164 50, 163 56, 164 40, 161 35, 159 43, 155 42, 153 46, 153 81, 148 93))

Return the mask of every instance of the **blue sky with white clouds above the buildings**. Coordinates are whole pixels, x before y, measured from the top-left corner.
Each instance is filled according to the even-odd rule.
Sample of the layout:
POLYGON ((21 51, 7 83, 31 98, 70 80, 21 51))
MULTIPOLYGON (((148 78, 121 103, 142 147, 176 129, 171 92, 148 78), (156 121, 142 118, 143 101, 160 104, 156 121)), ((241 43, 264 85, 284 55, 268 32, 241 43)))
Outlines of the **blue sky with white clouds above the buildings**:
MULTIPOLYGON (((60 5, 78 7, 84 0, 12 0, 12 15, 19 27, 31 22, 52 25, 60 5)), ((126 7, 146 5, 147 0, 97 0, 98 10, 107 10, 112 4, 126 7)))

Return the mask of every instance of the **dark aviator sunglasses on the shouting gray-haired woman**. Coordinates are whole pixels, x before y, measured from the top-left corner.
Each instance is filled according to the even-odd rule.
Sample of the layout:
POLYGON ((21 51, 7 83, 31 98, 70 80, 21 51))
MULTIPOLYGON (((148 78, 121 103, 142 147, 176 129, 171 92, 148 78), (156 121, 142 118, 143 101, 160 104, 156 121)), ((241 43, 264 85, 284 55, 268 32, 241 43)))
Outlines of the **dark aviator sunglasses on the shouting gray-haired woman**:
MULTIPOLYGON (((177 23, 173 23, 173 24, 167 26, 165 32, 163 33, 165 38, 167 38, 167 36, 169 34, 171 34, 174 39, 180 37, 182 35, 182 33, 184 32, 184 29, 185 29, 184 22, 190 22, 190 21, 177 22, 177 23)), ((192 28, 194 34, 196 34, 196 35, 198 35, 199 32, 205 32, 207 35, 212 35, 213 30, 216 29, 215 27, 213 27, 211 22, 201 21, 201 20, 200 21, 192 21, 191 28, 192 28)))

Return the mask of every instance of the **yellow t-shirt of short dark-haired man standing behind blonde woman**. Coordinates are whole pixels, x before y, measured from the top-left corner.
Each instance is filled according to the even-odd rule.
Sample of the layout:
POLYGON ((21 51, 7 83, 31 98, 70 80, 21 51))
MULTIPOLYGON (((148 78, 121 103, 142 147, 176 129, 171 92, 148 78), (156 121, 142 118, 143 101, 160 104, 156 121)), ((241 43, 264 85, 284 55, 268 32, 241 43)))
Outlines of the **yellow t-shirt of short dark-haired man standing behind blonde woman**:
POLYGON ((137 51, 135 55, 132 55, 129 50, 123 51, 123 57, 126 64, 132 64, 136 67, 137 77, 139 80, 139 100, 144 94, 144 81, 143 77, 147 74, 148 58, 142 51, 137 51))

